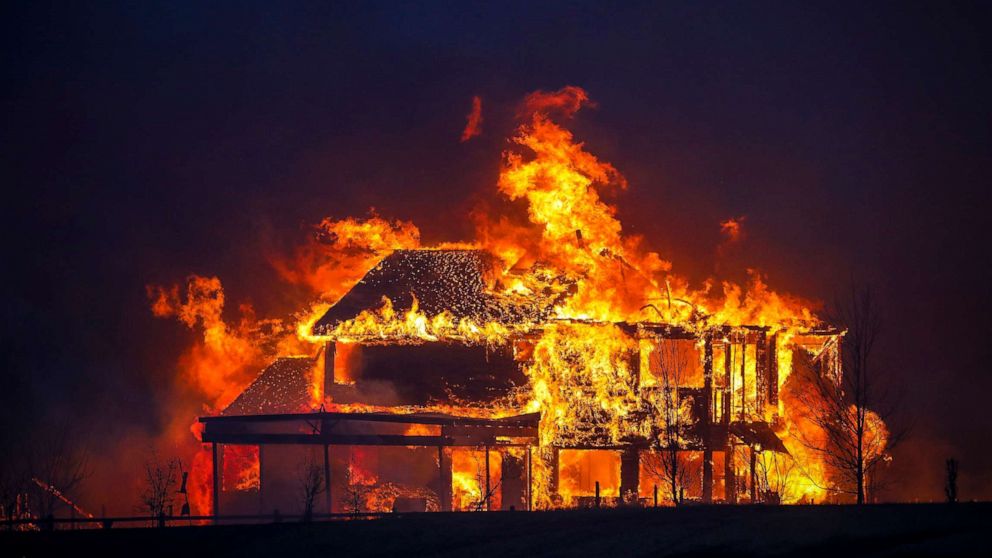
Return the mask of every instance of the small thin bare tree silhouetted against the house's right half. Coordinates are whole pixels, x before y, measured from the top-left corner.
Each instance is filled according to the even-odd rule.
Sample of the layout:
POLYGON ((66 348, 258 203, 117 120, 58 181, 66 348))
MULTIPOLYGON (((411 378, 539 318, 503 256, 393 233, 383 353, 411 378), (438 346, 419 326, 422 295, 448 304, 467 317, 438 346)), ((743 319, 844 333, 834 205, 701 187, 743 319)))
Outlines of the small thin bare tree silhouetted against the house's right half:
POLYGON ((683 500, 685 488, 696 476, 684 454, 692 427, 689 402, 679 393, 679 388, 687 379, 694 354, 688 342, 676 339, 660 340, 656 350, 657 379, 661 385, 654 405, 656 416, 660 416, 662 422, 655 424, 655 434, 652 436, 655 452, 647 454, 645 468, 665 480, 672 502, 678 505, 683 500))

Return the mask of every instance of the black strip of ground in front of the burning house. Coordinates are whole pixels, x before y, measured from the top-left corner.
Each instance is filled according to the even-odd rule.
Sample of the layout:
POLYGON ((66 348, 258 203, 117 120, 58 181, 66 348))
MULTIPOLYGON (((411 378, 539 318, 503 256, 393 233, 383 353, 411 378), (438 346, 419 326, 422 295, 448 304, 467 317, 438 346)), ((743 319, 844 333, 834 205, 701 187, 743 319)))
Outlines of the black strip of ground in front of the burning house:
POLYGON ((979 556, 992 504, 411 514, 366 521, 0 533, 3 556, 979 556))

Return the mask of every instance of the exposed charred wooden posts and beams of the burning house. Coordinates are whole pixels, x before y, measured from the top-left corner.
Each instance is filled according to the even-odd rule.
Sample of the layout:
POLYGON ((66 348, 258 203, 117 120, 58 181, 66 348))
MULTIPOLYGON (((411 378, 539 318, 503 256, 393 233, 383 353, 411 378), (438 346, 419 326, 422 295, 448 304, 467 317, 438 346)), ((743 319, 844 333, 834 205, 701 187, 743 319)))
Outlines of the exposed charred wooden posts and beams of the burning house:
MULTIPOLYGON (((745 427, 755 424, 754 421, 768 420, 768 414, 775 414, 774 407, 779 401, 778 393, 778 341, 777 334, 770 328, 759 326, 718 326, 703 331, 693 331, 679 326, 660 323, 618 324, 625 332, 639 340, 643 339, 693 339, 701 342, 703 387, 692 388, 701 396, 699 412, 698 441, 686 447, 686 450, 703 452, 702 464, 702 501, 712 503, 714 496, 714 451, 724 454, 724 487, 723 497, 729 503, 736 503, 738 495, 756 501, 756 451, 755 442, 749 436, 745 427), (751 356, 749 346, 754 347, 751 356), (721 370, 714 368, 714 352, 722 351, 724 365, 721 370), (746 370, 755 359, 754 385, 747 379, 746 370), (716 376, 714 376, 716 374, 716 376), (721 382, 722 380, 722 382, 721 382), (722 385, 721 385, 722 384, 722 385), (736 389, 735 389, 736 388, 736 389), (736 392, 740 391, 738 398, 736 392), (748 394, 753 393, 754 399, 749 400, 748 394), (753 403, 752 403, 753 401, 753 403), (738 407, 739 405, 739 407, 738 407), (754 408, 752 408, 752 406, 754 408), (748 448, 747 462, 740 463, 740 477, 737 476, 737 463, 734 460, 735 449, 748 448), (745 468, 748 468, 746 470, 745 468), (739 485, 739 486, 738 486, 739 485), (747 485, 745 487, 745 485, 747 485), (740 491, 738 492, 738 488, 740 491)), ((842 335, 843 332, 816 331, 810 335, 842 335)), ((334 342, 325 345, 324 381, 331 384, 334 381, 334 342)), ((717 355, 719 356, 719 355, 717 355)), ((631 370, 633 388, 640 390, 639 376, 647 371, 640 370, 641 357, 638 351, 633 351, 631 370)), ((644 388, 651 389, 651 388, 644 388)), ((638 452, 647 449, 646 440, 622 440, 620 443, 600 445, 595 442, 580 445, 539 446, 538 425, 540 414, 532 413, 499 419, 460 417, 443 413, 408 413, 394 414, 389 412, 313 412, 269 415, 214 416, 201 417, 203 423, 204 443, 210 443, 213 452, 214 471, 214 510, 218 513, 221 474, 223 470, 223 444, 234 445, 320 445, 324 451, 324 474, 330 479, 330 446, 393 446, 393 447, 431 447, 438 451, 438 482, 441 510, 450 511, 452 507, 451 490, 451 450, 453 447, 471 447, 485 450, 485 493, 486 509, 491 508, 490 496, 490 450, 503 453, 501 448, 519 447, 524 450, 526 470, 526 486, 523 496, 526 508, 533 509, 533 450, 537 447, 537 459, 541 459, 550 469, 549 489, 557 493, 559 484, 558 452, 561 449, 579 450, 620 450, 621 459, 621 494, 624 489, 637 491, 639 484, 638 452), (431 428, 418 429, 418 435, 402 434, 405 428, 398 425, 425 425, 431 428), (426 432, 426 434, 424 433, 426 432)), ((766 424, 766 423, 763 423, 766 424)), ((758 434, 761 434, 760 432, 758 434)), ((774 434, 773 434, 774 435, 774 434)), ((763 450, 786 451, 777 448, 775 444, 761 443, 763 450)), ((261 459, 261 454, 260 454, 261 459)), ((330 482, 327 483, 327 508, 332 509, 330 482)), ((433 481, 432 481, 433 484, 433 481)))

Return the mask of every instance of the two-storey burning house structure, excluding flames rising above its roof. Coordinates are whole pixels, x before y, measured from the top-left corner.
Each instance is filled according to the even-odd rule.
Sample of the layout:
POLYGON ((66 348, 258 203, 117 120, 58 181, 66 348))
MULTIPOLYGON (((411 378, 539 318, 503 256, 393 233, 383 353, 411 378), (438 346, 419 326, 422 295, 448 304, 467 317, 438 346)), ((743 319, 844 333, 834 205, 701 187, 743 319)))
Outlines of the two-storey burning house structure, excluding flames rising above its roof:
MULTIPOLYGON (((597 492, 633 504, 667 491, 659 477, 673 464, 692 470, 674 498, 780 498, 758 478, 759 456, 789 453, 777 332, 558 319, 568 289, 500 296, 494 262, 481 250, 393 252, 312 325, 318 358, 276 361, 201 418, 216 509, 294 509, 301 463, 331 479, 318 509, 332 512, 593 505, 597 492), (334 410, 293 412, 315 395, 334 410)), ((790 352, 836 375, 838 338, 808 331, 790 352)))

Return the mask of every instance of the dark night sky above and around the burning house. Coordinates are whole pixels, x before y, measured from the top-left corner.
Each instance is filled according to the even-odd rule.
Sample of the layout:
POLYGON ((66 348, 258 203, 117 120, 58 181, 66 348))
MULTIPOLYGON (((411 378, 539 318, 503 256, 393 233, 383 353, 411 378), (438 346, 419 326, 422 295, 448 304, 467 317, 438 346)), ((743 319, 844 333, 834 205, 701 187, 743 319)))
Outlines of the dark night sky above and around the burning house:
POLYGON ((872 281, 914 424, 898 495, 940 498, 954 455, 962 496, 992 498, 987 5, 204 4, 3 8, 5 439, 161 428, 188 338, 147 283, 216 274, 278 314, 264 254, 321 217, 468 238, 514 104, 571 84, 627 230, 676 270, 713 273, 745 215, 721 272, 821 300, 872 281))

